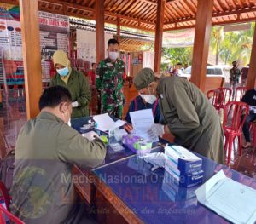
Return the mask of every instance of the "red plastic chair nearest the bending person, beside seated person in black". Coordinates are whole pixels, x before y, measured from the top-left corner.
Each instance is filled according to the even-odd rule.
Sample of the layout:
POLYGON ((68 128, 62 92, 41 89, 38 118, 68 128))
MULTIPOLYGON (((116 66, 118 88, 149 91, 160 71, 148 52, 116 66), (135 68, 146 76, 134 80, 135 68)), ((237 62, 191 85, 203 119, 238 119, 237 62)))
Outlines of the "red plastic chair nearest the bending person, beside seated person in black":
POLYGON ((247 115, 249 107, 246 103, 231 101, 224 107, 224 150, 227 152, 227 165, 230 164, 231 152, 236 137, 238 137, 238 150, 241 155, 241 134, 242 126, 245 123, 246 116, 241 120, 241 115, 247 115), (229 119, 230 117, 230 119, 229 119))

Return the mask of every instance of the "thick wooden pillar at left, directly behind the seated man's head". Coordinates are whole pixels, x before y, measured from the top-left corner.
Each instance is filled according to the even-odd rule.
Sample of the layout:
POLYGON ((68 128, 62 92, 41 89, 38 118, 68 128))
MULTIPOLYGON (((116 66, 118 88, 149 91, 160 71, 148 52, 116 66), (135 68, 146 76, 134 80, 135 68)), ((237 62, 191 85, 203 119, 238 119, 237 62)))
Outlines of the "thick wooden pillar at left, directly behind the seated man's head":
POLYGON ((26 117, 30 119, 38 115, 38 101, 42 95, 38 1, 20 0, 20 23, 26 89, 26 117))

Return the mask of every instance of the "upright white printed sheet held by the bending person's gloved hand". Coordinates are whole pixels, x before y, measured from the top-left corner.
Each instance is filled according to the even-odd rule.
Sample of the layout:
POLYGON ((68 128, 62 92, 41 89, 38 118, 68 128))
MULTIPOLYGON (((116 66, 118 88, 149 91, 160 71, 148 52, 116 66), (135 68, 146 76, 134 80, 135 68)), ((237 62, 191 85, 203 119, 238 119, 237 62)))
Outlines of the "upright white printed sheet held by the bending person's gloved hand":
POLYGON ((136 135, 139 135, 145 140, 153 142, 159 141, 158 138, 150 139, 150 136, 148 135, 148 130, 151 129, 154 124, 152 109, 130 112, 130 117, 136 135))

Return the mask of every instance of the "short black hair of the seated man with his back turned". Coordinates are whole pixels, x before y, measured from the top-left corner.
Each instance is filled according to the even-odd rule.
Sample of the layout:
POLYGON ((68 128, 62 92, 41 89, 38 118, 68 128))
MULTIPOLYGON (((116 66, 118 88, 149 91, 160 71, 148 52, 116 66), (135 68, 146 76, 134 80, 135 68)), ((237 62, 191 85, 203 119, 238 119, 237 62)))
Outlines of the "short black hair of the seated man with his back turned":
POLYGON ((42 111, 44 107, 54 108, 61 104, 61 102, 72 102, 68 89, 60 85, 49 87, 48 89, 44 89, 44 93, 40 97, 39 109, 42 111))

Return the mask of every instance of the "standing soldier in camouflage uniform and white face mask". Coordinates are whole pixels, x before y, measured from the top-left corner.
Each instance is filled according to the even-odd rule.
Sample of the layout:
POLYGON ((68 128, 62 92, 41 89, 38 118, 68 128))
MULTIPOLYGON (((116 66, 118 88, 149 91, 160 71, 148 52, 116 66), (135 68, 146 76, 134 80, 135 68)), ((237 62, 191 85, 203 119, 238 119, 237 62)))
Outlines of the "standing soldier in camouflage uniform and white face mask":
POLYGON ((101 99, 101 113, 108 112, 115 118, 123 113, 123 75, 125 63, 119 59, 119 42, 108 40, 108 58, 102 60, 96 71, 96 89, 101 99))

